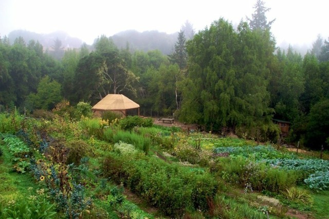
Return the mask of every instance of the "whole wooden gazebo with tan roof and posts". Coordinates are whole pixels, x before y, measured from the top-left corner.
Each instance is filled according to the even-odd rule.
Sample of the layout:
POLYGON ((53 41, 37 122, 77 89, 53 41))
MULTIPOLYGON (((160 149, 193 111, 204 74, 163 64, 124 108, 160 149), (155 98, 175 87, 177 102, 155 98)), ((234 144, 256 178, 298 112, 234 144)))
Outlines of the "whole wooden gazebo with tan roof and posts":
POLYGON ((119 113, 124 117, 127 116, 127 111, 130 109, 138 109, 139 116, 139 104, 135 103, 122 94, 108 94, 98 103, 96 103, 92 109, 94 115, 96 116, 101 116, 106 111, 112 111, 119 113))

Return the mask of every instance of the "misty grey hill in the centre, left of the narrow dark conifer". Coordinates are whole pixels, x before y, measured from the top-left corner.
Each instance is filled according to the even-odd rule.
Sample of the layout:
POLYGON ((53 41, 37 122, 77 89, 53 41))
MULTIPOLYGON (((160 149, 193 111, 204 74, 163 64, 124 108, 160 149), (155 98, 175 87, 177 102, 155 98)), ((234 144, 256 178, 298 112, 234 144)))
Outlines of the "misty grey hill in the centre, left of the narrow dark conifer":
POLYGON ((136 30, 126 30, 112 36, 118 48, 125 48, 127 43, 131 51, 149 51, 158 49, 163 54, 171 54, 177 41, 178 32, 167 34, 157 30, 138 32, 136 30))

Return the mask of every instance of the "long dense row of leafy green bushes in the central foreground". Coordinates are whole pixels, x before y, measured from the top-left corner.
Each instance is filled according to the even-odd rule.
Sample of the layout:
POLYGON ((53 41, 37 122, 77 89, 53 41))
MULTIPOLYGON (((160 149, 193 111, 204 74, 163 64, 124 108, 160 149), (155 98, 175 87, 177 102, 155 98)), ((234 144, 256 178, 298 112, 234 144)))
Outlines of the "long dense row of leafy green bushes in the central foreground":
POLYGON ((217 181, 205 171, 193 171, 140 154, 109 153, 102 170, 104 177, 123 182, 150 205, 172 217, 181 217, 187 209, 206 211, 207 200, 212 199, 218 188, 217 181))

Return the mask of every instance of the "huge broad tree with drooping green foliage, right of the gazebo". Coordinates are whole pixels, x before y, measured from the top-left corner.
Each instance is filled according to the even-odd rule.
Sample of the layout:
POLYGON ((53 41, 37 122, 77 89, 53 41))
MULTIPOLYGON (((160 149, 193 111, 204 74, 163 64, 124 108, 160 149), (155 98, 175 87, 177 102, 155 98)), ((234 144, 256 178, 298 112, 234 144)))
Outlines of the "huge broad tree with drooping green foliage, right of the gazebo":
POLYGON ((189 75, 184 83, 182 120, 222 126, 252 126, 269 121, 268 63, 275 42, 268 30, 251 30, 241 23, 238 30, 220 19, 187 42, 189 75))

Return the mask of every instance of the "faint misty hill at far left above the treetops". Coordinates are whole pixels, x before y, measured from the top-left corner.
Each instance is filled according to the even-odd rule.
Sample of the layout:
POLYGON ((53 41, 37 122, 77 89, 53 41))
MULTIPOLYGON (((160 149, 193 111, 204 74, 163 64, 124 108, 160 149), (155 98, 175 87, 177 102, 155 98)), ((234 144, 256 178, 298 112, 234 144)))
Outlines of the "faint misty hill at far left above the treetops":
POLYGON ((67 48, 80 48, 82 45, 82 40, 78 38, 73 38, 69 36, 66 32, 56 31, 47 34, 30 32, 27 30, 14 30, 8 35, 10 43, 13 43, 16 38, 22 36, 26 44, 30 40, 39 41, 39 43, 44 47, 44 49, 51 50, 54 45, 54 41, 58 38, 62 42, 62 47, 67 48))

